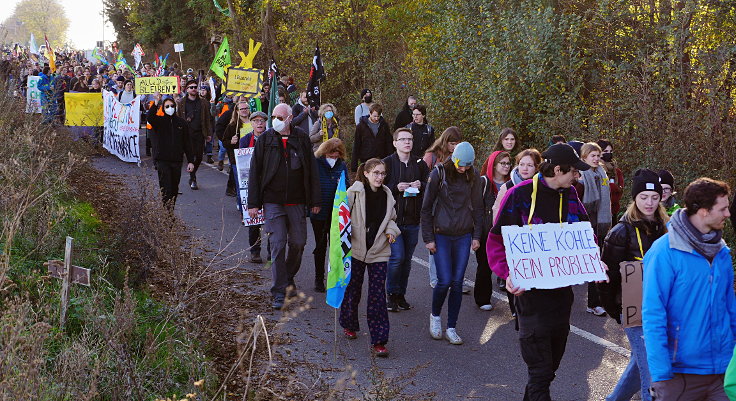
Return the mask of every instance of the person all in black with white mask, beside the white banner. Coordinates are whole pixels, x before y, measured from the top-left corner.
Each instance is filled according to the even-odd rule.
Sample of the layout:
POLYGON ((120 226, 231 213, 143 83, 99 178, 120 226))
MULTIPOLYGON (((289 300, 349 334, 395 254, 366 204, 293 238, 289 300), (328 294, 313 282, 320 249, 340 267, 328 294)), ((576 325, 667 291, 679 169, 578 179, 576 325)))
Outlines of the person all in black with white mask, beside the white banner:
POLYGON ((153 160, 158 171, 158 185, 164 205, 173 210, 181 180, 182 154, 187 156, 187 172, 194 171, 194 153, 189 139, 187 122, 176 115, 176 102, 166 99, 161 104, 161 94, 155 95, 155 104, 148 110, 148 123, 153 127, 151 145, 153 160))

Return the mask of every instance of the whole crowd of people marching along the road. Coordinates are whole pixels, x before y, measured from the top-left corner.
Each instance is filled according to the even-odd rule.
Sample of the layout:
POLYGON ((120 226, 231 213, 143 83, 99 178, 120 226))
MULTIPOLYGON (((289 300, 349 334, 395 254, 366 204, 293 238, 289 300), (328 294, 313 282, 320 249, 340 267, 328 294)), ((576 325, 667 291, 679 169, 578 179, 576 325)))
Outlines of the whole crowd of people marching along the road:
MULTIPOLYGON (((57 121, 63 113, 59 92, 104 88, 126 102, 136 96, 137 76, 157 73, 149 63, 129 71, 91 63, 79 54, 58 63, 51 74, 48 66, 6 57, 2 71, 6 82, 15 76, 21 96, 25 76, 42 77, 46 110, 57 121), (12 63, 15 69, 8 67, 12 63)), ((727 183, 710 178, 676 183, 670 172, 655 166, 629 172, 632 178, 626 182, 609 140, 568 141, 556 135, 540 151, 525 148, 511 128, 500 131, 490 154, 480 155, 461 128, 430 125, 428 107, 414 96, 389 124, 369 89, 360 92, 349 136, 352 124, 341 123, 334 104, 313 104, 288 77, 245 99, 223 95, 221 84, 201 72, 181 71, 173 64, 164 73, 182 77, 182 93, 149 95, 142 102, 150 140, 146 147, 163 200, 174 207, 184 158, 191 190, 198 189, 202 162, 220 170, 227 164, 226 195, 239 197, 234 152, 253 148, 248 196, 235 203, 246 205, 243 212, 250 217, 263 213, 262 227, 249 227, 248 250, 250 261, 259 264, 266 251, 274 309, 295 294, 307 219, 315 241, 313 289, 325 292, 326 253, 336 224, 333 201, 340 177, 349 177, 352 270, 339 313, 344 336, 358 337, 367 272, 364 303, 376 356, 388 355, 388 312, 411 310, 409 300, 431 305, 429 336, 462 344, 458 315, 474 253, 475 305, 493 309, 495 281, 516 319, 529 375, 524 400, 551 400, 550 384, 570 332, 573 291, 570 286, 516 285, 502 228, 590 222, 608 279, 586 284, 587 312, 621 324, 618 267, 627 261, 644 265, 643 324, 623 329, 631 357, 607 400, 629 400, 635 394, 642 400, 736 399, 736 366, 729 366, 736 296, 731 253, 723 240, 725 222, 734 211, 727 183), (278 104, 269 107, 269 102, 278 104), (622 204, 625 191, 629 204, 622 204), (407 294, 420 239, 430 264, 432 296, 426 300, 407 294)))

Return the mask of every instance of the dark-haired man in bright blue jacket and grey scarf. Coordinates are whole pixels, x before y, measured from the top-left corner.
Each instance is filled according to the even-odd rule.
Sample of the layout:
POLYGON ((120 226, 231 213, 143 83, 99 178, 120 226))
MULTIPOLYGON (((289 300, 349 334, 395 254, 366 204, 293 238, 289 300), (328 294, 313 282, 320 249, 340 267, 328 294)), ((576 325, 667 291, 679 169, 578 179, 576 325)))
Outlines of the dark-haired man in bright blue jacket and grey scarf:
POLYGON ((642 322, 656 400, 727 401, 724 373, 736 341, 728 184, 699 178, 685 208, 644 255, 642 322))

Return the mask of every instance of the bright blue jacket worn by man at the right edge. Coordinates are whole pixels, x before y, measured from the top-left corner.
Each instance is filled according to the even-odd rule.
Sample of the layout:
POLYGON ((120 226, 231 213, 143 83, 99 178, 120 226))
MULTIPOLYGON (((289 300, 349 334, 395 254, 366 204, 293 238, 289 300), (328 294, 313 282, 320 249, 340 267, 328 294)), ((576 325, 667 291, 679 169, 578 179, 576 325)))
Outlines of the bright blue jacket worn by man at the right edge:
POLYGON ((712 263, 677 231, 644 255, 642 321, 652 382, 675 373, 722 374, 736 339, 731 250, 712 263))

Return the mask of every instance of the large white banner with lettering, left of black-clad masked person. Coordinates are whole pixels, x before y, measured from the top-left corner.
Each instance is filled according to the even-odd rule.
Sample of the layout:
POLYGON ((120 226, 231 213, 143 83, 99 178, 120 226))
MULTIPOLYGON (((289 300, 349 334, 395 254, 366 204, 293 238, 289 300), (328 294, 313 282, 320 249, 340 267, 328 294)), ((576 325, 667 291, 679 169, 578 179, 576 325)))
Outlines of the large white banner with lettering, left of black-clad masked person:
POLYGON ((127 104, 119 102, 112 92, 105 91, 103 98, 105 128, 102 146, 122 161, 140 163, 140 96, 127 104))

